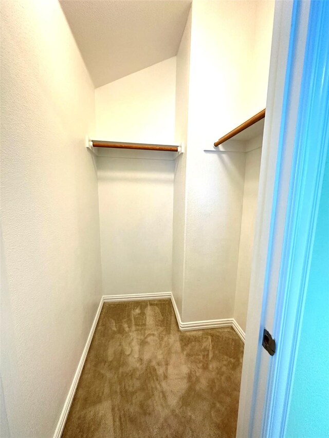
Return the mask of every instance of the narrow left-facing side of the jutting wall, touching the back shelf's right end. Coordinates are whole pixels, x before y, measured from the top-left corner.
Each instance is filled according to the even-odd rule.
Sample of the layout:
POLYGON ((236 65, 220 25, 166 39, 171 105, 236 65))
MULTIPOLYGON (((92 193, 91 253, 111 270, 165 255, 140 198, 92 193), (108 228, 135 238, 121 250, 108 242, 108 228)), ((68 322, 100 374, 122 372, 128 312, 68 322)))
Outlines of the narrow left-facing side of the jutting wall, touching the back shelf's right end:
POLYGON ((181 317, 185 266, 185 186, 187 129, 189 108, 189 74, 191 44, 191 11, 177 53, 175 141, 184 143, 185 153, 175 160, 173 212, 172 293, 181 317))

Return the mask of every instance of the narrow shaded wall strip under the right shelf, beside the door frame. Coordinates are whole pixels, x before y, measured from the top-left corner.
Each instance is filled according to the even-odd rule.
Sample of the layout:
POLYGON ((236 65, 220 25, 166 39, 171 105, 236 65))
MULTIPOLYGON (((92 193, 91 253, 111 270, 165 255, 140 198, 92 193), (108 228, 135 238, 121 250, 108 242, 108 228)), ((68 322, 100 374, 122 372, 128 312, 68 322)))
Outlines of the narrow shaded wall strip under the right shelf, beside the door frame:
POLYGON ((239 262, 236 274, 234 319, 246 331, 254 226, 258 201, 259 174, 261 168, 263 135, 246 142, 255 148, 246 154, 245 183, 241 219, 239 262))

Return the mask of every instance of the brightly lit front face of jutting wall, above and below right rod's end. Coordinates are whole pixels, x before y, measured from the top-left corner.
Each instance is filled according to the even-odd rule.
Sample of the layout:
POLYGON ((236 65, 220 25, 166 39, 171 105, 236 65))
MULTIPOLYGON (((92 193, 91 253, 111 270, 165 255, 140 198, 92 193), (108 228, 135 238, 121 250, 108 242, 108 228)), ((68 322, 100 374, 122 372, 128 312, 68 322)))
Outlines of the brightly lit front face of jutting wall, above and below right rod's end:
POLYGON ((273 11, 261 3, 192 4, 183 321, 234 313, 245 154, 203 149, 265 107, 271 26, 259 23, 273 11), (269 37, 260 50, 262 32, 269 37), (251 96, 254 87, 263 91, 251 96))

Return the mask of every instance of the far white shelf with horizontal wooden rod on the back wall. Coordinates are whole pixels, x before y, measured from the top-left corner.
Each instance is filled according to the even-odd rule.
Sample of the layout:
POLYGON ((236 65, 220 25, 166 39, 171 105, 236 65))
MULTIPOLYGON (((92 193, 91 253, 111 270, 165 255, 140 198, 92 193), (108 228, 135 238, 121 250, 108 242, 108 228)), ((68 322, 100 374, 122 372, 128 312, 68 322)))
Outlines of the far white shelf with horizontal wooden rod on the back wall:
MULTIPOLYGON (((125 149, 125 150, 143 150, 153 152, 171 153, 174 158, 182 154, 182 145, 178 144, 155 144, 155 143, 129 143, 110 140, 87 139, 86 147, 93 151, 94 154, 99 154, 100 148, 105 149, 125 149)), ((102 156, 104 156, 102 154, 102 156)))

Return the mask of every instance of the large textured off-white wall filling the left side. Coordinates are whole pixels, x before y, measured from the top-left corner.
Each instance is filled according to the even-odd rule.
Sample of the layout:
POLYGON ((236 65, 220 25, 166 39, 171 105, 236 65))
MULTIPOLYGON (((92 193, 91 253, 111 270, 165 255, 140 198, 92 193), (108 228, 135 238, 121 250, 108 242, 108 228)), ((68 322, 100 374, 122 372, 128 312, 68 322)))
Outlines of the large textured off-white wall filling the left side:
POLYGON ((56 0, 1 7, 2 416, 44 438, 101 297, 94 89, 56 0))

